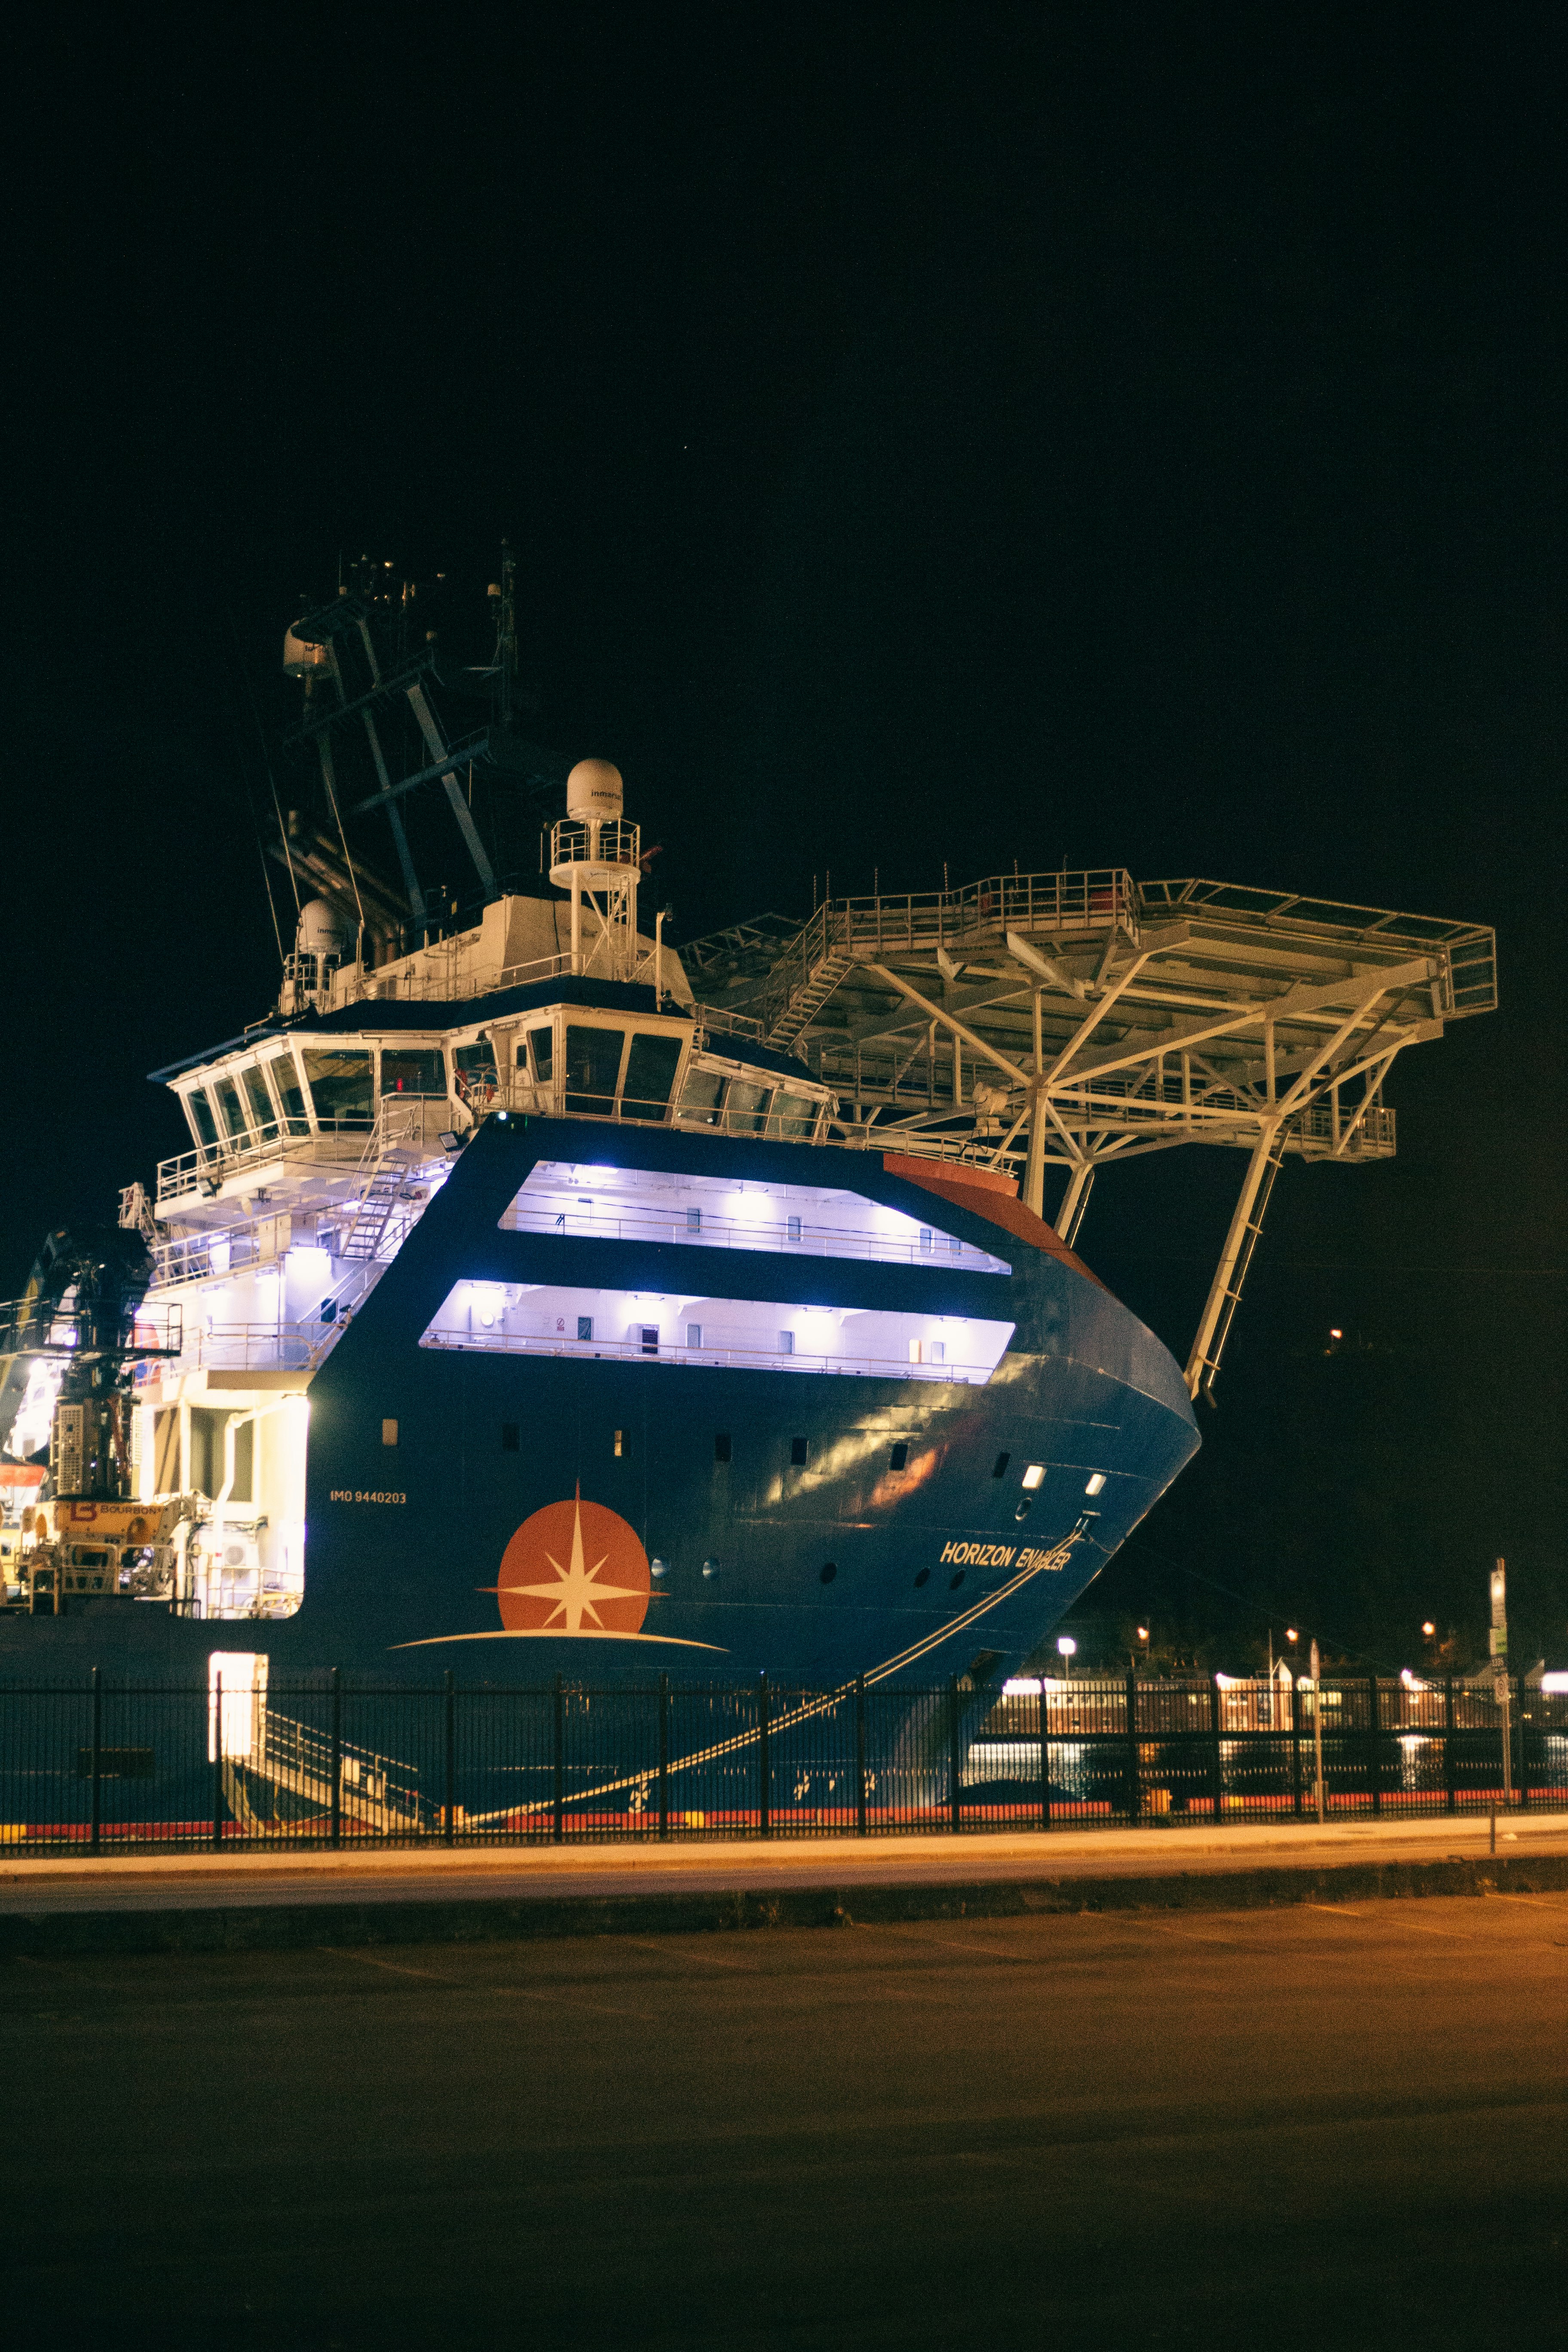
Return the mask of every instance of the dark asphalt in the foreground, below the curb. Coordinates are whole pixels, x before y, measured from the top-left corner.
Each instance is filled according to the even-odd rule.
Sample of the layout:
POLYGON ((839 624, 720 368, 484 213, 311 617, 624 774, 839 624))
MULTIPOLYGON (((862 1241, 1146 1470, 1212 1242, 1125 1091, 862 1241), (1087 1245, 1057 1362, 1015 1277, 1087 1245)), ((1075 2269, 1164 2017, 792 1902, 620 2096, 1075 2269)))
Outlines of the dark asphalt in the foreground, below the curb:
POLYGON ((1561 2340, 1561 1893, 0 1983, 16 2343, 1561 2340))

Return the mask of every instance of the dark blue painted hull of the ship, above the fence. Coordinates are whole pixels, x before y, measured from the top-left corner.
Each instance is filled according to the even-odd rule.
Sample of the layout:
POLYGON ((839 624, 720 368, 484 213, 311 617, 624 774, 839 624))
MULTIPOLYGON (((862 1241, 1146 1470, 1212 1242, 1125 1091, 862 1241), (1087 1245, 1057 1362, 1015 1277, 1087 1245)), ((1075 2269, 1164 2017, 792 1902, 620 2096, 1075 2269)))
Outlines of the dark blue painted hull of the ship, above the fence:
POLYGON ((0 1625, 5 1679, 75 1679, 99 1665, 183 1682, 205 1677, 214 1649, 254 1649, 275 1684, 334 1665, 397 1684, 451 1670, 491 1684, 769 1672, 802 1686, 856 1675, 936 1684, 973 1668, 994 1689, 1199 1437, 1166 1348, 1046 1225, 957 1169, 931 1164, 917 1183, 898 1171, 907 1167, 860 1150, 491 1120, 310 1383, 301 1609, 193 1623, 89 1599, 61 1618, 12 1616, 0 1625), (933 1214, 940 1183, 943 1230, 1006 1256, 1011 1272, 501 1230, 541 1160, 773 1183, 799 1183, 809 1162, 811 1183, 914 1218, 933 1214), (465 1279, 743 1289, 820 1308, 1004 1317, 1013 1334, 985 1385, 421 1345, 465 1279), (390 1423, 395 1446, 383 1442, 390 1423), (905 1449, 900 1472, 893 1446, 905 1449), (1027 1463, 1044 1465, 1034 1494, 1020 1489, 1027 1463), (508 1630, 496 1585, 510 1541, 534 1512, 578 1503, 614 1512, 656 1562, 639 1623, 508 1630))

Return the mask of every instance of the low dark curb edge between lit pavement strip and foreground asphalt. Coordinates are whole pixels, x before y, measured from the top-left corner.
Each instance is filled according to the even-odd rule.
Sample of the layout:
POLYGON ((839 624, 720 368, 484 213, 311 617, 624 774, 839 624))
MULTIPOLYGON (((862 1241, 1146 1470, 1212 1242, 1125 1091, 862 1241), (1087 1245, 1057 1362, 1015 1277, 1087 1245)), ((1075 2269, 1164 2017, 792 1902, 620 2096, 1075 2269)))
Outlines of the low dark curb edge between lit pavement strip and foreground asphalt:
POLYGON ((94 1952, 292 1952, 364 1943, 548 1943, 562 1936, 712 1936, 748 1929, 1025 1919, 1063 1912, 1284 1910, 1399 1896, 1556 1893, 1568 1853, 1441 1863, 1182 1870, 1145 1877, 1030 1877, 905 1886, 743 1886, 646 1896, 414 1898, 190 1910, 0 1912, 0 1959, 94 1952))

